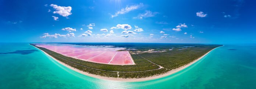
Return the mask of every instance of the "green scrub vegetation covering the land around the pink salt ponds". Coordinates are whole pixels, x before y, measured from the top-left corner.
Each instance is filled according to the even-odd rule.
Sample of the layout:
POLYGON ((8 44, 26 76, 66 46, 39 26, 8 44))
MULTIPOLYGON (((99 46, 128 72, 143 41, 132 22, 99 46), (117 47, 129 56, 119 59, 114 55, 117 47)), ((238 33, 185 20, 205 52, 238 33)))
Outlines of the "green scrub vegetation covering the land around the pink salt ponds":
MULTIPOLYGON (((35 46, 35 44, 31 44, 35 46)), ((119 44, 118 44, 119 45, 119 44)), ((115 47, 120 47, 114 45, 115 47)), ((195 59, 206 54, 208 51, 221 46, 221 45, 205 45, 205 44, 160 44, 158 46, 154 44, 144 45, 141 44, 138 46, 127 47, 127 49, 136 49, 130 51, 132 58, 136 65, 107 65, 94 62, 82 61, 79 59, 74 59, 66 57, 64 55, 58 54, 54 51, 45 49, 43 47, 37 47, 57 60, 64 62, 71 67, 75 67, 79 70, 88 72, 90 74, 96 74, 99 76, 105 77, 119 77, 119 78, 143 78, 154 75, 159 75, 166 73, 172 69, 184 66, 195 59), (194 47, 185 47, 183 46, 194 46, 194 47), (165 52, 153 52, 153 53, 139 53, 138 51, 147 51, 154 49, 154 51, 163 51, 165 52), (169 50, 172 49, 172 50, 169 50), (137 54, 138 53, 138 54, 137 54), (143 58, 142 58, 143 57, 143 58), (153 62, 149 62, 149 61, 153 62), (155 65, 155 64, 156 65, 155 65), (159 69, 162 66, 164 68, 159 69), (118 76, 119 75, 119 76, 118 76)))

